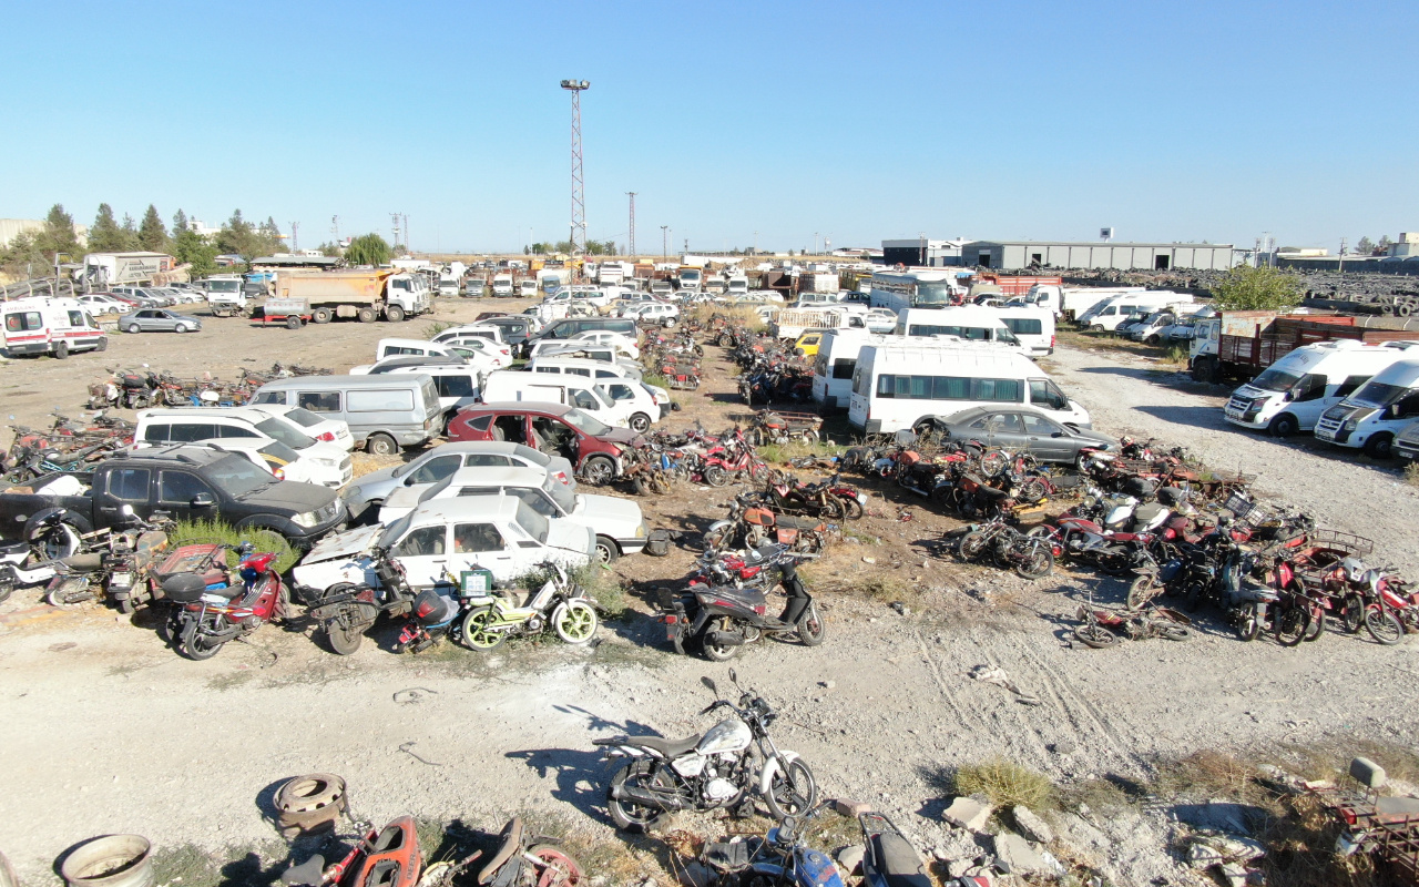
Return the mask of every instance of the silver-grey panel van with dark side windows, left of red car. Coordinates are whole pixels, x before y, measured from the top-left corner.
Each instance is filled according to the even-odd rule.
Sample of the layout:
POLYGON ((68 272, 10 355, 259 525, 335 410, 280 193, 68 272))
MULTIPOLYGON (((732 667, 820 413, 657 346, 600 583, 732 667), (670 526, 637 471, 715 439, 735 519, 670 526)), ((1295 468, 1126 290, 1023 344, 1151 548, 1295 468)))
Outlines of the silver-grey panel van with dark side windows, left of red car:
POLYGON ((394 456, 443 431, 438 389, 426 373, 277 379, 263 385, 251 403, 298 406, 339 419, 355 443, 376 456, 394 456))

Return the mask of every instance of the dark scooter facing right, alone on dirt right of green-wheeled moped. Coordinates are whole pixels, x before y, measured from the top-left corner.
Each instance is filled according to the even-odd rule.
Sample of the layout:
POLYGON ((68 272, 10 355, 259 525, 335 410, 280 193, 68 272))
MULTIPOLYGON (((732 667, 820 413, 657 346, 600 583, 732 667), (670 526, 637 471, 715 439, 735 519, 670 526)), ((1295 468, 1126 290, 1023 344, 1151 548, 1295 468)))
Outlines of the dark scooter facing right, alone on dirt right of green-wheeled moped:
POLYGON ((668 612, 660 617, 675 651, 684 656, 690 646, 711 661, 724 661, 765 634, 793 636, 806 647, 823 643, 827 624, 799 576, 795 556, 779 546, 766 566, 778 568, 789 597, 778 619, 768 615, 768 595, 762 588, 692 583, 670 602, 668 612))

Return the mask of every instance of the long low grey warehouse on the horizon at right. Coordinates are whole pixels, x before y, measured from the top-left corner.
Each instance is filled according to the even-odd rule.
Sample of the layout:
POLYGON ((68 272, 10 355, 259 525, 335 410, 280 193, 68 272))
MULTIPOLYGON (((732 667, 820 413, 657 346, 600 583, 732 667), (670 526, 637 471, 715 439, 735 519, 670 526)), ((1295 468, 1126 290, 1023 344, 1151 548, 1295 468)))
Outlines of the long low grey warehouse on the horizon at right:
POLYGON ((1053 243, 1036 240, 976 240, 961 247, 961 264, 982 268, 1114 268, 1169 271, 1233 267, 1232 244, 1218 243, 1053 243))

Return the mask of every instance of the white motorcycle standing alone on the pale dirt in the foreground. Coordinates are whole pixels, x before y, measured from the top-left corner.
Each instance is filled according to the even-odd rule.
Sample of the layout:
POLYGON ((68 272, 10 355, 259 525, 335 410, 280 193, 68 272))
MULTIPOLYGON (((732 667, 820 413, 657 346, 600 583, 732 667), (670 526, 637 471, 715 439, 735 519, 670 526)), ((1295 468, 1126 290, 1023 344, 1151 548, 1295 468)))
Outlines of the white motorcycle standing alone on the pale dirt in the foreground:
POLYGON ((813 772, 796 752, 779 749, 769 738, 778 717, 762 697, 742 691, 734 668, 729 681, 741 690, 739 704, 718 698, 710 677, 701 683, 715 694, 701 715, 719 708, 734 712, 707 732, 677 742, 661 737, 606 737, 612 759, 626 759, 606 790, 606 806, 619 829, 646 832, 671 810, 752 810, 752 795, 763 796, 778 819, 802 813, 817 802, 813 772), (762 764, 761 764, 762 762, 762 764))

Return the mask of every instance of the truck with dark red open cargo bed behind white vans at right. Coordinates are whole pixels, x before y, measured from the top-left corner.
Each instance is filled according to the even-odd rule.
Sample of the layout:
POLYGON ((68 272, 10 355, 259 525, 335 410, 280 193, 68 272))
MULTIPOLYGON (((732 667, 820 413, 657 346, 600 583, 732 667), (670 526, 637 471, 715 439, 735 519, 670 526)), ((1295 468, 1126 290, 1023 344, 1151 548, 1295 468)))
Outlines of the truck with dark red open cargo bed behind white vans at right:
POLYGON ((1188 369, 1198 382, 1249 380, 1303 345, 1419 341, 1419 318, 1223 311, 1198 321, 1188 369))

